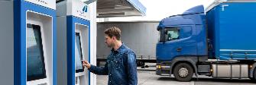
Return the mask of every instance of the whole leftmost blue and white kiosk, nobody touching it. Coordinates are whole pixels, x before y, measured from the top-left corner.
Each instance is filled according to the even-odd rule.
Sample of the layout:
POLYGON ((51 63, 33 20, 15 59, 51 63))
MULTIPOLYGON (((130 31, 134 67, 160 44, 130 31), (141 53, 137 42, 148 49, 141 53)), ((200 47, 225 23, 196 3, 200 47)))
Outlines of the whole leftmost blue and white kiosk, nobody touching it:
POLYGON ((56 2, 0 0, 0 83, 56 85, 56 2))

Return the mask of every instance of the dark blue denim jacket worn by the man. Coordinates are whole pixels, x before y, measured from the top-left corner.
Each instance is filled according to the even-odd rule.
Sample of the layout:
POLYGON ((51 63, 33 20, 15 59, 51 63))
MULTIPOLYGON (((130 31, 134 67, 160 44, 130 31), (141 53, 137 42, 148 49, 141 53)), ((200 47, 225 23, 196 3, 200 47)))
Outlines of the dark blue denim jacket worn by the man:
POLYGON ((112 49, 105 67, 91 65, 89 71, 100 75, 108 74, 109 85, 137 85, 138 83, 136 55, 124 44, 116 51, 112 49))

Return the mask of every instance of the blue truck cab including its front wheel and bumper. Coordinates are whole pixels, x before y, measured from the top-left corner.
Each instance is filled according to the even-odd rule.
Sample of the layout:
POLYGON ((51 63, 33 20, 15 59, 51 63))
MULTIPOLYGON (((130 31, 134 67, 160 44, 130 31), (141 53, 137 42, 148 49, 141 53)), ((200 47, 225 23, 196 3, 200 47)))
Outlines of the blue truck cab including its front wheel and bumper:
MULTIPOLYGON (((180 74, 174 74, 181 81, 188 81, 196 72, 198 58, 207 59, 206 15, 203 5, 190 8, 183 14, 160 20, 157 27, 160 37, 157 43, 157 74, 173 74, 175 64, 180 74), (183 63, 182 63, 183 62, 183 63), (187 63, 186 63, 187 62, 187 63), (179 76, 180 75, 180 76, 179 76), (188 77, 188 78, 183 78, 188 77)), ((177 73, 177 72, 176 72, 177 73)))

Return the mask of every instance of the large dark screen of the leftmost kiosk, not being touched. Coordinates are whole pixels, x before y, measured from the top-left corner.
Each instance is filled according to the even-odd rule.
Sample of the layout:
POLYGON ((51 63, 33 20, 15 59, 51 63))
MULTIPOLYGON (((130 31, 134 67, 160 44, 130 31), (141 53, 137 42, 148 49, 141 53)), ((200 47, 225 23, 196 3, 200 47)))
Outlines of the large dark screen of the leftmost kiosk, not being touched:
POLYGON ((27 24, 27 81, 46 78, 41 27, 27 24))

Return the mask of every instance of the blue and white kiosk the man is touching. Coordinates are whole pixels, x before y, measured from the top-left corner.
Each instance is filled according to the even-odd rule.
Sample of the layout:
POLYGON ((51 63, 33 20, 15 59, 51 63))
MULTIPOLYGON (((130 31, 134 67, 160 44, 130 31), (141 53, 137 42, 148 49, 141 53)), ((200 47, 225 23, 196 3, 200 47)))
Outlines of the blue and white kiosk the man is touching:
POLYGON ((89 85, 82 61, 90 61, 89 5, 84 0, 57 2, 57 83, 89 85))

